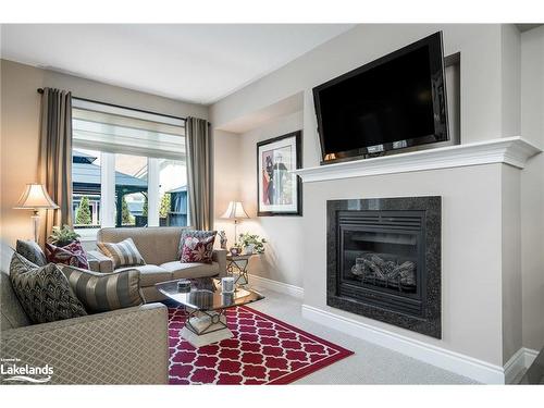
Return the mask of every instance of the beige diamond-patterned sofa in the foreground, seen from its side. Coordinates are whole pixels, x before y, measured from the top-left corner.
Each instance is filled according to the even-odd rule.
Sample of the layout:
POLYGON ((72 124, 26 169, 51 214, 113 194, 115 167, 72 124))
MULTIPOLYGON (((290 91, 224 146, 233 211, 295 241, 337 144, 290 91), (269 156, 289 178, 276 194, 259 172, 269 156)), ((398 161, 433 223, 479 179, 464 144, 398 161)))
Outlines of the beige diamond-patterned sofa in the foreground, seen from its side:
MULTIPOLYGON (((2 258, 8 249, 2 246, 2 258)), ((53 384, 166 384, 168 311, 162 304, 32 325, 7 262, 0 272, 0 358, 53 369, 53 384)), ((4 382, 5 375, 0 376, 4 382)))

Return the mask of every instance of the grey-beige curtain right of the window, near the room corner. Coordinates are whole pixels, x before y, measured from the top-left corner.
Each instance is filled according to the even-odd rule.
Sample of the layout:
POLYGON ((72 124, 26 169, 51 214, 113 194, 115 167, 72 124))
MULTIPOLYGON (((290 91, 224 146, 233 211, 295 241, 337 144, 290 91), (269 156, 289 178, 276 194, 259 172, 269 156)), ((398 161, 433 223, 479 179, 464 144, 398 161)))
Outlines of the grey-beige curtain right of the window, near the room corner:
POLYGON ((187 118, 185 123, 189 225, 206 231, 213 227, 212 139, 208 126, 197 118, 187 118))

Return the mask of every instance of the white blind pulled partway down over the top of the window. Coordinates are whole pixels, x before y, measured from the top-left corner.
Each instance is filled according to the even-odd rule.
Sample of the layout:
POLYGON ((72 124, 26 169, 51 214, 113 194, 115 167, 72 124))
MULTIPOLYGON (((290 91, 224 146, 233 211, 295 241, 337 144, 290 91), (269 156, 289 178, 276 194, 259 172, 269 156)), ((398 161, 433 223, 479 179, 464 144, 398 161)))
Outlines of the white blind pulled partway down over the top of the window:
POLYGON ((73 100, 73 143, 84 149, 185 161, 185 121, 73 100))

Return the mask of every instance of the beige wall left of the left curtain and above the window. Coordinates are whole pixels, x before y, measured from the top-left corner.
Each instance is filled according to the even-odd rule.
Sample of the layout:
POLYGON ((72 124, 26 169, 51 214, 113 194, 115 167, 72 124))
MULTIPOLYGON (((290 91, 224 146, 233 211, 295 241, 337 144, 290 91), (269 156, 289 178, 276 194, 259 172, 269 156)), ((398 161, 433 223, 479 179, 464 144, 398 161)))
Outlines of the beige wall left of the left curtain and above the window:
POLYGON ((36 181, 41 87, 75 97, 176 116, 208 118, 208 108, 1 60, 1 237, 13 245, 32 237, 30 212, 13 206, 26 183, 36 181))

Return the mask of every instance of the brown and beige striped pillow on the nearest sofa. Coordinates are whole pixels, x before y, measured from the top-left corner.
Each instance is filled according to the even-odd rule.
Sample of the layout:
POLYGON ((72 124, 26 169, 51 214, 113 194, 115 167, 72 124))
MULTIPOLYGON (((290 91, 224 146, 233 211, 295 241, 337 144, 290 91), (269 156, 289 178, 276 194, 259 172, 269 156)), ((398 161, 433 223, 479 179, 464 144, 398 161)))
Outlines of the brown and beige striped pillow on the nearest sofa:
POLYGON ((144 304, 139 288, 139 271, 99 273, 61 265, 70 286, 89 313, 129 308, 144 304))

